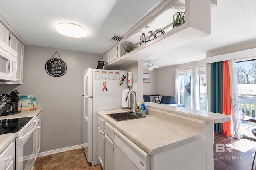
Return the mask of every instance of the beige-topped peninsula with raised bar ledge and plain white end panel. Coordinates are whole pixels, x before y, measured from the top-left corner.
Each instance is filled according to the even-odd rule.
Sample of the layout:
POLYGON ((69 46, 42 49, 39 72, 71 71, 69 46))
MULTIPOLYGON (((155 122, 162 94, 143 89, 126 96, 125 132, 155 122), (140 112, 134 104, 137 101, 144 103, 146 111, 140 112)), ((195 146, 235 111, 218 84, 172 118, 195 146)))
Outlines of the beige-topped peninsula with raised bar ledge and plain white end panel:
POLYGON ((146 102, 146 109, 146 118, 125 121, 108 116, 127 112, 122 109, 99 111, 98 115, 153 156, 152 170, 170 166, 213 169, 213 125, 230 121, 229 115, 151 102, 146 102))

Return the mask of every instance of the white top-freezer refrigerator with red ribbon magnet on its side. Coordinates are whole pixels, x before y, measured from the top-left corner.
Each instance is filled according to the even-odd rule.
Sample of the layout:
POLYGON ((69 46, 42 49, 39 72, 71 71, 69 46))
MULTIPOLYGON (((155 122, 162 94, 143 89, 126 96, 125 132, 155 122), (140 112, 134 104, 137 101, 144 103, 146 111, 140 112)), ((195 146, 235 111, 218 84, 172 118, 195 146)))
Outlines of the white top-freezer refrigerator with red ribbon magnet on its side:
POLYGON ((82 80, 82 146, 92 166, 98 159, 98 111, 121 109, 127 71, 88 68, 82 80))

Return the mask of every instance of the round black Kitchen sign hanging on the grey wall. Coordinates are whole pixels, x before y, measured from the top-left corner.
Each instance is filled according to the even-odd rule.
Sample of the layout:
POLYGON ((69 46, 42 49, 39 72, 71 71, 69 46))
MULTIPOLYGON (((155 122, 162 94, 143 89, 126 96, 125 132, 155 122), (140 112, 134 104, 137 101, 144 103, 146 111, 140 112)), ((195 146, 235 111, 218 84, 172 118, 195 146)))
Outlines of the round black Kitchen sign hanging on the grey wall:
MULTIPOLYGON (((58 52, 56 51, 54 53, 58 54, 58 52)), ((54 56, 53 55, 53 56, 54 56)), ((58 54, 59 55, 59 54, 58 54)), ((52 56, 52 57, 53 57, 52 56)), ((59 55, 60 56, 60 55, 59 55)), ((45 64, 45 70, 46 72, 53 77, 60 77, 63 76, 66 71, 67 71, 67 65, 66 63, 62 60, 62 59, 58 59, 58 58, 51 58, 50 60, 48 60, 45 64)))

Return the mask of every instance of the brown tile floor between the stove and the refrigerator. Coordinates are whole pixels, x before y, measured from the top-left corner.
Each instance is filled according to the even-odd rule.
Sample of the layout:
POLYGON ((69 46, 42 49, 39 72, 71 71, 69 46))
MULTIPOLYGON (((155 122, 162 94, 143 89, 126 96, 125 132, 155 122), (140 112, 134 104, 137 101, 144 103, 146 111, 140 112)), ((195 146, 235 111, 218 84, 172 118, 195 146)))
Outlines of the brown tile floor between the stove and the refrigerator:
POLYGON ((37 158, 34 170, 103 170, 99 165, 87 162, 84 150, 74 149, 66 152, 37 158))

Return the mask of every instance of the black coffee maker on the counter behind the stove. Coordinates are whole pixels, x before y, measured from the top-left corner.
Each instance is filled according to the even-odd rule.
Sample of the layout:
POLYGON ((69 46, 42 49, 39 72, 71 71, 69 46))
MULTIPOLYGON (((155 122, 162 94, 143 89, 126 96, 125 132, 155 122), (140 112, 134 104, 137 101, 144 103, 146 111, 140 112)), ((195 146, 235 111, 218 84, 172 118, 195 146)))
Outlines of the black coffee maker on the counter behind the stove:
POLYGON ((20 100, 20 96, 18 96, 18 90, 14 89, 10 92, 10 94, 3 94, 6 96, 5 106, 0 109, 0 116, 14 115, 20 113, 18 111, 18 104, 20 100))

